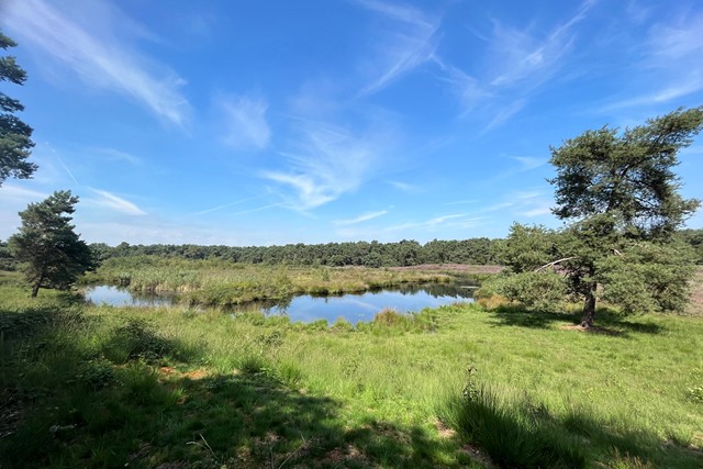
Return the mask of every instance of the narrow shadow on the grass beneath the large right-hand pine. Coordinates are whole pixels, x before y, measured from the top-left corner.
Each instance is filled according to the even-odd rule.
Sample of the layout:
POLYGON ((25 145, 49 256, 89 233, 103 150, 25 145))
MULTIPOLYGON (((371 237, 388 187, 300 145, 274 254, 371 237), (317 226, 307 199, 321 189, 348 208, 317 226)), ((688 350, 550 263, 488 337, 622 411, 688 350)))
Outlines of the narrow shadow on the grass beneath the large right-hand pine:
MULTIPOLYGON (((501 305, 489 311, 495 326, 517 326, 528 328, 550 328, 554 323, 570 322, 574 326, 581 323, 581 313, 553 313, 528 311, 522 306, 501 305)), ((606 308, 595 312, 595 326, 580 331, 604 334, 615 337, 628 337, 631 334, 659 334, 665 328, 651 322, 632 321, 637 316, 626 316, 606 308)))

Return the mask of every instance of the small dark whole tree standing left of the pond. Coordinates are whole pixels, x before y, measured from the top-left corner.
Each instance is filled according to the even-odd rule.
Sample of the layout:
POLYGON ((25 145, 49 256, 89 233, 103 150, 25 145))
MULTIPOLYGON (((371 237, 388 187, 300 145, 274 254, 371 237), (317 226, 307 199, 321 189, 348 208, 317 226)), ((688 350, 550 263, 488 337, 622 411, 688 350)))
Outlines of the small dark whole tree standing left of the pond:
POLYGON ((56 191, 20 212, 22 226, 10 237, 9 245, 14 257, 26 263, 32 297, 37 295, 40 288, 67 290, 93 267, 90 248, 69 223, 77 202, 70 191, 56 191))

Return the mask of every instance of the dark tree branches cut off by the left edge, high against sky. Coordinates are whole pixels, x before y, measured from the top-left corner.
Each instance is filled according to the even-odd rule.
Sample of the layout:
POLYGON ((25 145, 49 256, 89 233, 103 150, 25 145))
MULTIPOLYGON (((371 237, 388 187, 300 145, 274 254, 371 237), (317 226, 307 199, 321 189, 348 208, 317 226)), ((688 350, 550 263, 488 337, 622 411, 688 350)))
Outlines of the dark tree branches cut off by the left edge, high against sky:
MULTIPOLYGON (((8 49, 14 46, 16 43, 0 31, 0 47, 8 49)), ((14 57, 0 57, 0 81, 22 85, 25 79, 26 74, 14 57)), ((0 91, 0 186, 8 177, 27 179, 36 170, 35 164, 26 161, 34 146, 32 127, 14 115, 23 110, 20 101, 0 91)))

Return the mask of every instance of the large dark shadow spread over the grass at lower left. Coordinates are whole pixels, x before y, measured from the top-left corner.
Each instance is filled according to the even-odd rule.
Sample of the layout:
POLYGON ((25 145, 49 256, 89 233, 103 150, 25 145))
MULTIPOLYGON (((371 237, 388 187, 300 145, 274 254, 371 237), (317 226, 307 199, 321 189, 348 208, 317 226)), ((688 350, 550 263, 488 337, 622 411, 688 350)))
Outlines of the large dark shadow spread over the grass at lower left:
MULTIPOLYGON (((0 435, 0 468, 466 462, 456 443, 433 439, 419 426, 349 425, 339 402, 284 386, 264 360, 215 373, 198 367, 204 350, 141 320, 124 321, 99 346, 92 342, 97 348, 86 348, 91 340, 71 340, 71 334, 94 333, 94 324, 49 321, 46 313, 29 312, 33 333, 15 334, 2 348, 0 395, 12 395, 3 413, 15 418, 0 435)), ((24 324, 18 321, 11 320, 15 333, 24 324)))

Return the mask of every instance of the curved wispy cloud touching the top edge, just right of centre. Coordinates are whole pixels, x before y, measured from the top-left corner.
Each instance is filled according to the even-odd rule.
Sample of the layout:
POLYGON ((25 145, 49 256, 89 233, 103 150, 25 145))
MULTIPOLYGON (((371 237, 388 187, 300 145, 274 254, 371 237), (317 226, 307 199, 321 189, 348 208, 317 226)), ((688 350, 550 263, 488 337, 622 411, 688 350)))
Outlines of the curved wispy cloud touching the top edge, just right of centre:
POLYGON ((437 46, 436 32, 440 24, 438 18, 431 18, 423 11, 405 4, 377 0, 357 0, 357 3, 393 24, 393 27, 380 34, 377 57, 369 65, 373 75, 360 94, 379 91, 432 59, 437 46))

